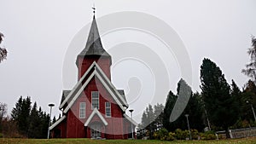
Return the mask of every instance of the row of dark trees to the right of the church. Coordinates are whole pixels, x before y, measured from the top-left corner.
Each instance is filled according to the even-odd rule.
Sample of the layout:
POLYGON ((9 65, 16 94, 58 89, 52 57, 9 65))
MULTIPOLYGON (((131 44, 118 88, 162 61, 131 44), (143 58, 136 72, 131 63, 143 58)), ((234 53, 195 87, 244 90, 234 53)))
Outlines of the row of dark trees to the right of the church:
POLYGON ((155 110, 152 106, 149 105, 146 108, 143 112, 142 123, 137 130, 137 137, 147 136, 149 139, 154 139, 153 135, 158 134, 160 128, 169 132, 188 130, 186 114, 188 114, 191 130, 200 132, 225 130, 228 138, 230 129, 256 126, 256 118, 253 115, 254 106, 256 106, 256 38, 252 38, 252 48, 248 49, 247 53, 251 61, 242 72, 252 79, 242 89, 239 89, 234 80, 229 84, 220 67, 212 60, 205 58, 201 64, 201 93, 191 91, 184 111, 174 122, 170 122, 171 113, 177 110, 174 110, 174 106, 181 89, 180 83, 183 81, 181 79, 177 84, 177 94, 169 92, 166 105, 158 117, 154 116, 155 110), (150 123, 148 123, 148 118, 153 118, 150 123))

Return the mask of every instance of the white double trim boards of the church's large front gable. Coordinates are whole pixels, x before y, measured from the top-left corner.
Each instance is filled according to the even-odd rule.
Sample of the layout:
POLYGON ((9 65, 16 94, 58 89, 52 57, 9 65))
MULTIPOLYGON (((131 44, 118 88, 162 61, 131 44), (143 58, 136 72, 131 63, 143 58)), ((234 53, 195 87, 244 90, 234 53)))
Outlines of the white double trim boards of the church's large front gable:
POLYGON ((94 77, 100 80, 103 87, 107 89, 108 93, 113 97, 113 100, 119 105, 123 112, 125 112, 125 107, 128 107, 128 104, 124 97, 119 94, 117 89, 114 88, 113 84, 111 84, 108 77, 104 74, 104 72, 102 72, 102 69, 96 64, 96 62, 93 62, 90 68, 84 73, 83 77, 79 79, 78 84, 75 85, 73 90, 61 103, 60 109, 64 107, 65 103, 67 103, 67 107, 64 107, 64 113, 67 113, 70 107, 73 106, 73 103, 79 98, 79 95, 84 91, 85 87, 94 77), (82 82, 84 82, 84 84, 82 82))

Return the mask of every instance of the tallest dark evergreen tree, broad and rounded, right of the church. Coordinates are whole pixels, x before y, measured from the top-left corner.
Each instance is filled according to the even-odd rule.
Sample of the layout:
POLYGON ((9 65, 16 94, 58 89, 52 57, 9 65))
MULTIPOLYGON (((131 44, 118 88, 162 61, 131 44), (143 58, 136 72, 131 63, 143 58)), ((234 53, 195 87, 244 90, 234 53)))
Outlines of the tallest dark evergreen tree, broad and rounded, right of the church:
POLYGON ((237 107, 230 95, 230 85, 220 68, 211 60, 204 59, 201 65, 201 90, 210 122, 227 132, 237 120, 237 107))

